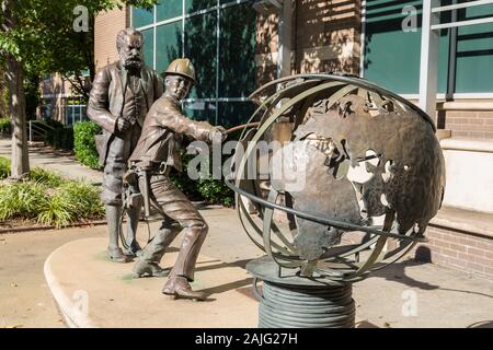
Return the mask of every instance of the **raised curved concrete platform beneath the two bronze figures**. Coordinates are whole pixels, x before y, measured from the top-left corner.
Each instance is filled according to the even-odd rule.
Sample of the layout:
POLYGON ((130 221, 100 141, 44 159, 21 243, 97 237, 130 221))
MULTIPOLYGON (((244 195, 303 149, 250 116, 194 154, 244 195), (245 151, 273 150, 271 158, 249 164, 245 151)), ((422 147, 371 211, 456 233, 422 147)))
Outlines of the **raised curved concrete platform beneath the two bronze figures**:
MULTIPOLYGON (((253 328, 257 302, 252 279, 238 266, 200 256, 195 290, 205 302, 172 301, 161 294, 165 279, 134 279, 133 264, 115 264, 105 256, 105 238, 68 243, 45 262, 45 277, 66 324, 70 327, 129 328, 253 328)), ((171 267, 177 252, 167 254, 171 267)))

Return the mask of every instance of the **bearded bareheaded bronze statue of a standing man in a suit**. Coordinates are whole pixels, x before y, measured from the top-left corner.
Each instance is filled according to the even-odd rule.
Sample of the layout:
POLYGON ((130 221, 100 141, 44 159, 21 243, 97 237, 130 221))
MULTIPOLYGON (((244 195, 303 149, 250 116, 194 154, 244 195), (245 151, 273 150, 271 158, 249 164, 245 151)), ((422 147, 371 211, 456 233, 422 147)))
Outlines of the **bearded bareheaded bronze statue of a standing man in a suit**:
POLYGON ((104 67, 95 77, 88 104, 88 116, 99 124, 103 135, 96 137, 100 164, 104 166, 102 200, 105 205, 110 244, 107 254, 115 262, 128 262, 140 250, 136 231, 140 206, 126 209, 128 230, 126 246, 119 247, 123 215, 123 176, 128 158, 137 145, 144 119, 161 97, 160 75, 144 65, 142 34, 123 30, 116 38, 119 60, 104 67))

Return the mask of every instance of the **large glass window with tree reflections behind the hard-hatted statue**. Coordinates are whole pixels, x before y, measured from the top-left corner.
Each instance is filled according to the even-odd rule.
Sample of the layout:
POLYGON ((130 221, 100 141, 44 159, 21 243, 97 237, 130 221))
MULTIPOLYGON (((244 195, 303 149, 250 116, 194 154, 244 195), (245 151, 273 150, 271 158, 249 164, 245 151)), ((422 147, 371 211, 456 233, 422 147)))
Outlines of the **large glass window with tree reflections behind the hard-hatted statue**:
MULTIPOLYGON (((163 72, 175 58, 192 60, 197 84, 184 104, 186 115, 228 126, 246 120, 253 112, 250 103, 218 101, 238 101, 255 90, 256 12, 251 1, 239 4, 233 0, 161 0, 156 9, 158 23, 174 22, 144 31, 146 62, 152 66, 156 55, 154 69, 163 72), (183 16, 183 3, 188 16, 183 16), (218 4, 228 5, 218 10, 218 4)), ((141 24, 142 21, 134 26, 141 24)))

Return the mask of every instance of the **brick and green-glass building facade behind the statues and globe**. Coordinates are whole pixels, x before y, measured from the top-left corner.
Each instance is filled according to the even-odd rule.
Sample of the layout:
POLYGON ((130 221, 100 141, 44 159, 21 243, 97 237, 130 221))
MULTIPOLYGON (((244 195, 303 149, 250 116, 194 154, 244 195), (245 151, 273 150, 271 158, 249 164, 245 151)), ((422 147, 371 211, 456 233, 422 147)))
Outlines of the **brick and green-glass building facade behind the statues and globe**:
POLYGON ((448 186, 416 255, 493 277, 493 1, 162 0, 98 16, 99 68, 127 26, 156 70, 193 60, 185 110, 213 124, 245 121, 248 96, 294 73, 351 73, 420 104, 438 126, 448 186))

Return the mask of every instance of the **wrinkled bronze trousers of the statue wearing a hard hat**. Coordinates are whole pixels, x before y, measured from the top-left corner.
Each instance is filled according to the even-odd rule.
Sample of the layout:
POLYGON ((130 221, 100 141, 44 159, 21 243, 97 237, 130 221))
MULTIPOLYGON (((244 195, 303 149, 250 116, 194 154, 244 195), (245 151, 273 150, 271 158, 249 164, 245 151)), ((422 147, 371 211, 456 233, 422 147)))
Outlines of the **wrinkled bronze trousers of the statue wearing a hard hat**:
MULTIPOLYGON (((144 188, 144 176, 140 176, 140 188, 144 188)), ((195 264, 208 231, 207 223, 169 177, 164 175, 150 176, 149 192, 151 207, 163 218, 163 224, 144 249, 141 259, 159 262, 169 245, 184 230, 185 235, 179 257, 170 277, 181 276, 193 281, 195 264)))

